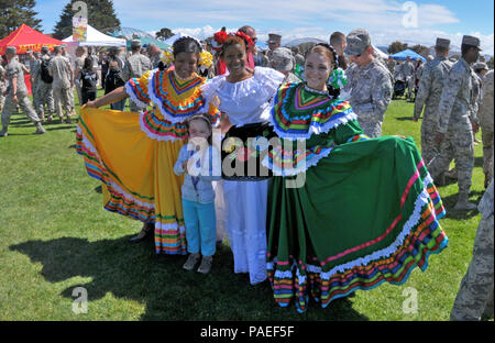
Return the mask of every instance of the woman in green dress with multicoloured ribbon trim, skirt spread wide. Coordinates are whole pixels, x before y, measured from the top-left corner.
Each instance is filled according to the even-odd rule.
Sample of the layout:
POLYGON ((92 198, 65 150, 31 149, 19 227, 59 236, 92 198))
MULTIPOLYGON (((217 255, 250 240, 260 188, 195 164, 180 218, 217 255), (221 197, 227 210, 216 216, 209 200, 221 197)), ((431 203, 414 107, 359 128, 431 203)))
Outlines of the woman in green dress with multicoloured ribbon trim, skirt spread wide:
POLYGON ((358 289, 402 285, 448 242, 440 196, 413 139, 362 134, 351 106, 327 88, 344 81, 334 56, 315 46, 306 82, 278 89, 271 124, 282 140, 263 161, 275 175, 268 279, 275 300, 294 300, 298 311, 309 297, 327 307, 358 289))

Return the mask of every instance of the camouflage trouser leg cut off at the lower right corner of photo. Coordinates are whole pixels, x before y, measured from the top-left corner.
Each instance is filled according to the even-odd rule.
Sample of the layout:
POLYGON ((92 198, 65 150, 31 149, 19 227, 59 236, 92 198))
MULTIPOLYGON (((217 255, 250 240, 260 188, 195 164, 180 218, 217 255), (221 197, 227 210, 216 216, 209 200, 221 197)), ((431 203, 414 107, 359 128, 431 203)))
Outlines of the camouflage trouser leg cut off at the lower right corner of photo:
POLYGON ((493 318, 493 178, 477 209, 482 220, 474 239, 473 259, 455 297, 450 320, 493 318))

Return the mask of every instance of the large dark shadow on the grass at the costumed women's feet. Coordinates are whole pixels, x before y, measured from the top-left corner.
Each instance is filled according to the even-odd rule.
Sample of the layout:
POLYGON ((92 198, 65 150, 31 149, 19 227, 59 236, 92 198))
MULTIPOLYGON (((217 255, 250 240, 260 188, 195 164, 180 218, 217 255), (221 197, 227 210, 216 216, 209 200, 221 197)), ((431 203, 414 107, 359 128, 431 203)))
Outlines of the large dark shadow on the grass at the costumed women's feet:
MULTIPOLYGON (((85 285, 62 292, 74 299, 74 288, 88 291, 91 301, 111 292, 116 298, 145 305, 141 320, 367 320, 352 308, 350 298, 337 299, 322 309, 311 302, 299 314, 294 305, 278 307, 268 281, 250 285, 246 274, 233 273, 230 248, 220 245, 208 275, 186 272, 186 256, 156 255, 153 240, 131 245, 129 236, 89 242, 86 239, 61 237, 29 241, 10 246, 43 265, 48 283, 73 277, 90 277, 85 285)), ((112 317, 109 309, 109 319, 112 317)))

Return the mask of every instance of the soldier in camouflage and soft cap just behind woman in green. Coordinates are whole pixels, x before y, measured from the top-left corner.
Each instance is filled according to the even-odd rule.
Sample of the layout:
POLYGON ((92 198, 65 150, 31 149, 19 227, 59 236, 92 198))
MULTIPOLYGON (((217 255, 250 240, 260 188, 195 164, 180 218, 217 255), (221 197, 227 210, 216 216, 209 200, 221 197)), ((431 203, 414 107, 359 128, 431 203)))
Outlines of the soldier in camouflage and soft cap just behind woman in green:
MULTIPOLYGON (((388 69, 375 59, 370 34, 354 30, 346 37, 345 54, 351 56, 355 67, 350 67, 348 86, 350 101, 358 122, 370 137, 382 135, 382 123, 392 101, 393 77, 388 69)), ((349 70, 349 69, 348 69, 349 70)))

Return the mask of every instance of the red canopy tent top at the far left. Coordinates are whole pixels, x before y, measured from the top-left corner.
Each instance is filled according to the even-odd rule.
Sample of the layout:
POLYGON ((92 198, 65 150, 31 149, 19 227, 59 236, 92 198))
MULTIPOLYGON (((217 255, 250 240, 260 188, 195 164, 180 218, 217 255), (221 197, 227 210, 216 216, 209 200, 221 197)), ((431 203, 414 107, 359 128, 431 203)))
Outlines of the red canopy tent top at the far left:
POLYGON ((18 30, 0 41, 0 55, 6 53, 8 46, 15 46, 18 55, 25 54, 26 51, 41 52, 43 45, 47 45, 51 51, 55 45, 63 44, 62 41, 52 38, 26 24, 22 24, 18 30))

